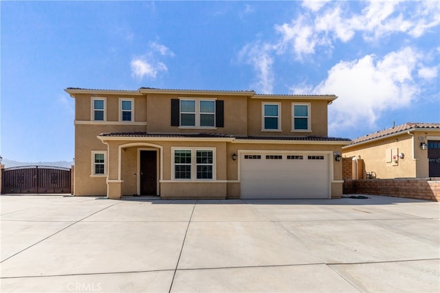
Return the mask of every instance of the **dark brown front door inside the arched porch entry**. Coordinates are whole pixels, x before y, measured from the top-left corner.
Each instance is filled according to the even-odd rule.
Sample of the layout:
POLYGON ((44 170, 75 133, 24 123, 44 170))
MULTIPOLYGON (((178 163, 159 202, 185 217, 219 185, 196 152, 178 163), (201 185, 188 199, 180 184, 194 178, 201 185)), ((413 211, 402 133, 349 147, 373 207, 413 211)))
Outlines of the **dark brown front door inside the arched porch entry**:
POLYGON ((157 152, 140 152, 140 195, 157 196, 157 152))

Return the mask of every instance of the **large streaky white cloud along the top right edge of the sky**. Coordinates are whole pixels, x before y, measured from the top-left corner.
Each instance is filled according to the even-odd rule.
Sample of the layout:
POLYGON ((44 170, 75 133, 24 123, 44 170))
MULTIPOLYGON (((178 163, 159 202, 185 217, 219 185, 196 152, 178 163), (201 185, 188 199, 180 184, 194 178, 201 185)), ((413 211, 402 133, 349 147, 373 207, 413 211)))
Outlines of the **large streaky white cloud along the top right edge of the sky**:
POLYGON ((417 38, 440 24, 438 1, 369 1, 358 13, 349 10, 349 2, 330 2, 324 8, 318 3, 303 2, 316 13, 299 14, 291 23, 275 25, 281 35, 274 44, 278 49, 292 49, 296 58, 303 60, 315 54, 318 47, 332 49, 334 40, 347 43, 356 33, 362 34, 366 42, 395 33, 417 38))

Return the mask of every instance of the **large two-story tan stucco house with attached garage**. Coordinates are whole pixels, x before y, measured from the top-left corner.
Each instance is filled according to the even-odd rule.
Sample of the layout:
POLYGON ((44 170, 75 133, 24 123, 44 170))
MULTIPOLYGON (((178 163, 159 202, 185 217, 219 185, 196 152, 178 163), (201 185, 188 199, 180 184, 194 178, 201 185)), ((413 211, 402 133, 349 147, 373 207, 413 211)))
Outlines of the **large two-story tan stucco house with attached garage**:
POLYGON ((75 98, 76 196, 339 198, 335 95, 141 88, 75 98))

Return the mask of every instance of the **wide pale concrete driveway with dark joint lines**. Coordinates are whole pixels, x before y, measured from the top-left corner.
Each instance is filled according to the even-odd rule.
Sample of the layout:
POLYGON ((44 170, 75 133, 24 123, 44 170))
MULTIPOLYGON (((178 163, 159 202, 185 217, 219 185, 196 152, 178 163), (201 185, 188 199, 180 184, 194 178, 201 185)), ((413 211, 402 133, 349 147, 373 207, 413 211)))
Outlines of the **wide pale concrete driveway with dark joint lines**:
POLYGON ((440 292, 440 203, 1 196, 1 292, 440 292))

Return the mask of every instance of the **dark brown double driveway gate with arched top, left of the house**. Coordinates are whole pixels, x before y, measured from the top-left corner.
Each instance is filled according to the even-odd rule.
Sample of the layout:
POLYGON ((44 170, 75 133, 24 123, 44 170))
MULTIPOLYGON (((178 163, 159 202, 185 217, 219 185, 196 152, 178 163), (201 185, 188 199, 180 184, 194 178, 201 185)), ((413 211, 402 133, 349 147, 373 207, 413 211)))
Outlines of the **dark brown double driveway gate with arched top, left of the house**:
POLYGON ((3 169, 3 194, 70 194, 71 169, 24 166, 3 169))

